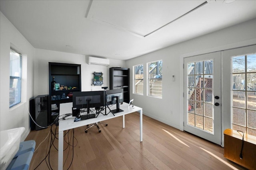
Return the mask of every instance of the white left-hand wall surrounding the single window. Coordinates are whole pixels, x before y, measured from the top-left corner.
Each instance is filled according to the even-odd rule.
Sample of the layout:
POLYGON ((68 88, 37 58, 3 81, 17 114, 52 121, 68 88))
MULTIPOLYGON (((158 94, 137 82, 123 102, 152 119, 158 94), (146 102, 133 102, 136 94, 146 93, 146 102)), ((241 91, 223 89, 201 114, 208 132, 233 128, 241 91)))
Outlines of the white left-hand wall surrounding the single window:
POLYGON ((0 130, 25 127, 30 131, 29 100, 34 96, 34 47, 0 12, 0 130), (22 53, 22 101, 9 109, 10 46, 22 53))

